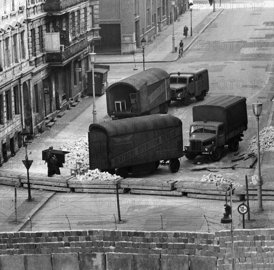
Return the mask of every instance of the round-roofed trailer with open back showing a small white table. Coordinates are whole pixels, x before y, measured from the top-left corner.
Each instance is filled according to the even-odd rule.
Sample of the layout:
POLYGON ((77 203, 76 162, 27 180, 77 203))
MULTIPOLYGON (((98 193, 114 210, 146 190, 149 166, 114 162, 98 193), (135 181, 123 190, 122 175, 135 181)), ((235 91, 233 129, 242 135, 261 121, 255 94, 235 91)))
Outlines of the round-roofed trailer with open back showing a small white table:
POLYGON ((170 104, 169 74, 149 68, 106 90, 107 110, 112 119, 167 113, 170 104))

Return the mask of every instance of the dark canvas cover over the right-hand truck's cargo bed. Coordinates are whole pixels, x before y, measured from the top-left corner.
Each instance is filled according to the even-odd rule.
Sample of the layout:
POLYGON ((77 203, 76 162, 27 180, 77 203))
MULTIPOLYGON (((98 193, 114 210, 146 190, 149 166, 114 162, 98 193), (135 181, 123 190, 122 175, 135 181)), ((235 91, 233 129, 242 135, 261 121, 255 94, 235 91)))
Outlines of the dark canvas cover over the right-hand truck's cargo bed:
POLYGON ((247 99, 239 96, 216 96, 193 106, 193 122, 222 122, 226 129, 232 130, 238 126, 247 126, 247 99))

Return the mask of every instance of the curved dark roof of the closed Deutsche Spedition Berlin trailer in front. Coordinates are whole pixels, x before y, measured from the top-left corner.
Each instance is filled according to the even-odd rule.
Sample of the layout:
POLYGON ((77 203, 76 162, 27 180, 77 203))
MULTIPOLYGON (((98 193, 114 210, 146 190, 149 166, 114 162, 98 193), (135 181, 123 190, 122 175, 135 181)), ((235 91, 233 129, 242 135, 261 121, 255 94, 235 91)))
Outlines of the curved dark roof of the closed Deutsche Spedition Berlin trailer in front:
POLYGON ((99 124, 91 124, 92 129, 103 129, 109 137, 157 130, 174 126, 182 126, 182 121, 169 114, 153 114, 120 120, 107 120, 99 124))

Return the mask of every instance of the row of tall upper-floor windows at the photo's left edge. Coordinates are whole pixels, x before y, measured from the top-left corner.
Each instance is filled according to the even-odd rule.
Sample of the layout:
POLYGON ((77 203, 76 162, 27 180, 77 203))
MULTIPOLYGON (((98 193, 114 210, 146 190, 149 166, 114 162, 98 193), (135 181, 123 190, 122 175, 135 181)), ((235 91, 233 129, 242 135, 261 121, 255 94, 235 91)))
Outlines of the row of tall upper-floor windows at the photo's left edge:
POLYGON ((0 66, 8 68, 19 60, 26 59, 25 50, 25 31, 0 40, 0 66))

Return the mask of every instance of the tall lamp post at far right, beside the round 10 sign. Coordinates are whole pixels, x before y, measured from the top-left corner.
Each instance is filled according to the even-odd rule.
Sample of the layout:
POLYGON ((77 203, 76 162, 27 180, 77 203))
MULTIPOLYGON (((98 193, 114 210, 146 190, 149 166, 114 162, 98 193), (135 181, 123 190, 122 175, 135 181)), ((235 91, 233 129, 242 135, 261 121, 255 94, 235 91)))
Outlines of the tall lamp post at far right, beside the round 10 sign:
POLYGON ((259 133, 259 116, 262 114, 263 104, 260 102, 252 103, 253 113, 257 118, 257 160, 258 160, 258 179, 257 179, 257 191, 258 191, 258 204, 257 211, 264 211, 262 202, 262 185, 261 178, 261 161, 260 161, 260 133, 259 133))

